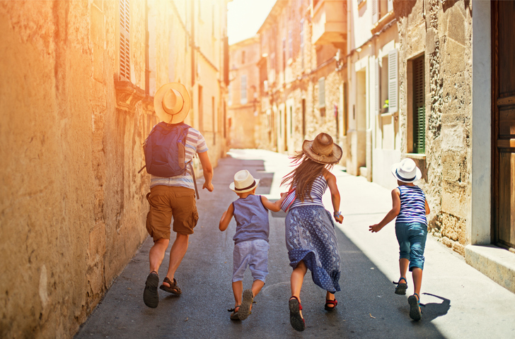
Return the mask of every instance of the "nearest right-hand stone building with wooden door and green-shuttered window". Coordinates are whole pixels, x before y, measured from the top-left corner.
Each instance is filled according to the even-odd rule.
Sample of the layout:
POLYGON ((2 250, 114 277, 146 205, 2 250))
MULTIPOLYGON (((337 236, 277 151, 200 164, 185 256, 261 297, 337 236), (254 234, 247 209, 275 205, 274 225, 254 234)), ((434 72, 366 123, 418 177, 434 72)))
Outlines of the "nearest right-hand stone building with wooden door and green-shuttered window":
POLYGON ((393 10, 400 152, 422 169, 431 232, 515 292, 515 2, 393 10))

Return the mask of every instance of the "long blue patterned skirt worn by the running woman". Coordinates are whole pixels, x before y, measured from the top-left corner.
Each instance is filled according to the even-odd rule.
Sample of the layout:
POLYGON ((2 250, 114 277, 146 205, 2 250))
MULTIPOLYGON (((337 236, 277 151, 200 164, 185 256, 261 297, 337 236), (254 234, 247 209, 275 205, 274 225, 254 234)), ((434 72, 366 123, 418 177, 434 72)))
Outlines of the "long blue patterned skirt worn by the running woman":
POLYGON ((323 206, 291 208, 286 217, 290 266, 304 261, 313 283, 331 293, 340 291, 340 254, 332 216, 323 206))

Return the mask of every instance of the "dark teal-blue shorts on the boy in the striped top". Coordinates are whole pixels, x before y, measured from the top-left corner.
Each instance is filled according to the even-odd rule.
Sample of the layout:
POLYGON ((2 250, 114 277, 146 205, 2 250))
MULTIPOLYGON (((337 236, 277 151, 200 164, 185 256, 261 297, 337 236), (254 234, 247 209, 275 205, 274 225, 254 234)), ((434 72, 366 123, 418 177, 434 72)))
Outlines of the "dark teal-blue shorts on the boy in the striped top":
POLYGON ((410 271, 413 268, 424 269, 427 225, 422 222, 396 222, 395 235, 399 242, 399 258, 410 261, 410 271))

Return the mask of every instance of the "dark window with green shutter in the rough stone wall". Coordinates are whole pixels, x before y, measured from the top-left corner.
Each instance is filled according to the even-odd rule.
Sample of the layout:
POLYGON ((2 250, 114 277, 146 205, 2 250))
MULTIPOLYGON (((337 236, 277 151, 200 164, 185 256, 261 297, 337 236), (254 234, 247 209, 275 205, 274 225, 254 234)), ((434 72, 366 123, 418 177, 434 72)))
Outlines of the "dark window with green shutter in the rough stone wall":
POLYGON ((426 152, 424 56, 413 60, 413 153, 426 152))

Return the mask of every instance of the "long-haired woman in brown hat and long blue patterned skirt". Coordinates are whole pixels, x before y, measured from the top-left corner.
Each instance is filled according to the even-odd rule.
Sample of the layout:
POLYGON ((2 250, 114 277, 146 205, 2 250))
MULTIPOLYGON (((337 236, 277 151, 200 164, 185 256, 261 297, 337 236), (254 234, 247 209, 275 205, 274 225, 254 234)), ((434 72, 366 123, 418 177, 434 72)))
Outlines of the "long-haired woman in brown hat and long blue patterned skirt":
POLYGON ((320 133, 313 141, 303 142, 302 151, 292 157, 297 167, 282 181, 290 184, 289 191, 295 194, 286 217, 286 246, 290 266, 294 268, 289 310, 290 323, 296 331, 306 328, 301 313, 301 287, 308 269, 313 282, 327 291, 324 308, 334 311, 338 304, 335 292, 340 291, 340 254, 332 218, 341 224, 343 216, 336 177, 329 170, 341 158, 342 148, 332 142, 330 135, 320 133), (322 203, 328 187, 332 215, 322 203))

